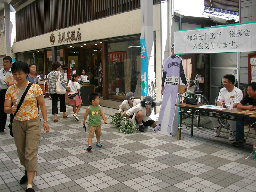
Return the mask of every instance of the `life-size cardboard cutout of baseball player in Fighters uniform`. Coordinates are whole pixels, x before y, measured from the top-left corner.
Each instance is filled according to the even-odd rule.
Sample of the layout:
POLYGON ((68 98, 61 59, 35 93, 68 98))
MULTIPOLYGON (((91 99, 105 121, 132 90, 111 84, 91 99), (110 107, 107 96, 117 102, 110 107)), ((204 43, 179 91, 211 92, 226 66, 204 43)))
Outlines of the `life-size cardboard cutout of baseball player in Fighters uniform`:
POLYGON ((168 135, 174 135, 177 133, 177 117, 177 123, 174 124, 174 126, 173 120, 174 115, 176 114, 175 116, 177 116, 177 113, 175 113, 175 103, 178 102, 178 84, 180 82, 180 94, 185 93, 188 87, 187 77, 183 69, 182 59, 174 54, 174 44, 172 44, 171 46, 171 53, 172 55, 164 61, 162 69, 163 77, 161 94, 163 95, 163 101, 159 111, 158 124, 154 128, 155 132, 160 132, 162 134, 168 135), (179 73, 181 81, 179 81, 179 73), (175 133, 173 132, 173 128, 175 128, 176 130, 175 133))

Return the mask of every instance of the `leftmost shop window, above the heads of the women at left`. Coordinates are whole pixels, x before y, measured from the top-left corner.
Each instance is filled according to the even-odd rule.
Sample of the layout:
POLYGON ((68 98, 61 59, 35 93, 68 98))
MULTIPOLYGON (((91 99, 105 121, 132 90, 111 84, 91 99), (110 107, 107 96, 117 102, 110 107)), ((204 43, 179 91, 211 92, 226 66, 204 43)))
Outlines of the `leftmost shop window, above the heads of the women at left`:
POLYGON ((24 61, 26 63, 36 63, 38 65, 37 74, 44 74, 44 53, 43 51, 39 52, 27 52, 24 53, 24 61))

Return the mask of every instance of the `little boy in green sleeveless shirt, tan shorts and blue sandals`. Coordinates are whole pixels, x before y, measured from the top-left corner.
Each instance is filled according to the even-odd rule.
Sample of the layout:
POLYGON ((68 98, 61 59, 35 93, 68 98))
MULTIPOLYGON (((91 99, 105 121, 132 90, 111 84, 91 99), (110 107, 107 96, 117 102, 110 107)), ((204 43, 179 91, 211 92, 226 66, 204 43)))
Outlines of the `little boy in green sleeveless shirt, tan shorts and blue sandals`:
POLYGON ((85 125, 85 120, 87 119, 87 116, 89 115, 89 130, 88 130, 88 146, 87 150, 90 151, 92 149, 92 138, 94 137, 94 132, 96 135, 96 145, 98 147, 102 147, 100 143, 100 136, 102 135, 101 133, 101 120, 100 116, 102 116, 102 119, 104 120, 104 124, 108 124, 106 121, 106 117, 103 113, 103 110, 101 108, 100 104, 100 95, 98 93, 91 93, 89 95, 89 101, 91 102, 92 105, 90 105, 84 114, 84 121, 83 125, 85 125))

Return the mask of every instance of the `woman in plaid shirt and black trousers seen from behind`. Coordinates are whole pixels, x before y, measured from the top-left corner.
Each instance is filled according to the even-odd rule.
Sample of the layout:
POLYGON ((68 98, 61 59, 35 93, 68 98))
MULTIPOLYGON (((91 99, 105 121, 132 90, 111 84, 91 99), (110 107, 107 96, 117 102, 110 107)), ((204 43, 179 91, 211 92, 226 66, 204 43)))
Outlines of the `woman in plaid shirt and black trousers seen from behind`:
POLYGON ((58 76, 60 74, 60 81, 63 87, 66 87, 63 76, 61 72, 59 72, 61 64, 57 61, 52 63, 52 71, 48 74, 48 81, 50 87, 50 94, 52 98, 52 114, 54 114, 54 122, 58 121, 58 97, 60 99, 60 112, 63 112, 62 118, 66 118, 68 114, 66 114, 66 103, 65 103, 65 94, 60 95, 56 93, 56 83, 58 80, 58 76))

